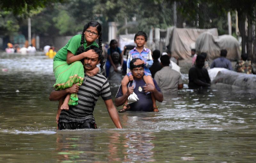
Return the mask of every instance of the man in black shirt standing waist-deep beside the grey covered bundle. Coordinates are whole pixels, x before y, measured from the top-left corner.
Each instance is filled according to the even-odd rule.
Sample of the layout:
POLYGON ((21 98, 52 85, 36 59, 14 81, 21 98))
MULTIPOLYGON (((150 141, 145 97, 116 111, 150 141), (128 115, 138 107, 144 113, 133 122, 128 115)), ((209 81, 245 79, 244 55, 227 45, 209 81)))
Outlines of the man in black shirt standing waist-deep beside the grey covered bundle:
POLYGON ((199 87, 210 87, 211 79, 208 71, 204 68, 204 55, 198 55, 196 57, 196 66, 191 67, 188 72, 188 87, 195 89, 199 87))

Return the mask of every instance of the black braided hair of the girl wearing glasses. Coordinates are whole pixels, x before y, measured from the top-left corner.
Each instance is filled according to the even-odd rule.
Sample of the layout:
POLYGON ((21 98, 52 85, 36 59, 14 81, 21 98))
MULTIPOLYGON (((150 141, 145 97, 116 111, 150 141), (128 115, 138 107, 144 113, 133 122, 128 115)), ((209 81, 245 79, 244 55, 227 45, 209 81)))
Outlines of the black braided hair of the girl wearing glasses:
POLYGON ((77 49, 76 55, 85 52, 85 49, 84 49, 84 32, 90 26, 97 28, 98 35, 99 35, 99 49, 101 50, 101 53, 102 53, 102 45, 101 45, 102 44, 102 39, 101 39, 101 35, 102 35, 101 29, 102 29, 102 27, 101 27, 101 24, 97 21, 90 21, 89 23, 84 25, 84 30, 82 32, 81 42, 80 42, 81 46, 79 46, 79 48, 77 49))

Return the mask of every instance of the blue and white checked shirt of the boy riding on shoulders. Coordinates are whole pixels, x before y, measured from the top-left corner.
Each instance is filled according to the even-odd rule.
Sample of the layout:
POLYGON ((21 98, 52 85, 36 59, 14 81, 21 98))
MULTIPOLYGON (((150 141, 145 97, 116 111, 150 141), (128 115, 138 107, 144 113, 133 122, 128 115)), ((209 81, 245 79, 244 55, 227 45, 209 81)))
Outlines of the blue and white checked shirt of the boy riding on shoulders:
POLYGON ((134 47, 132 50, 130 50, 129 55, 128 55, 128 60, 127 60, 127 75, 131 76, 132 73, 130 72, 130 62, 134 58, 139 58, 143 60, 144 63, 144 74, 146 76, 151 75, 151 72, 149 70, 149 67, 152 66, 153 64, 153 59, 151 55, 151 50, 144 47, 142 52, 140 53, 136 47, 134 47))

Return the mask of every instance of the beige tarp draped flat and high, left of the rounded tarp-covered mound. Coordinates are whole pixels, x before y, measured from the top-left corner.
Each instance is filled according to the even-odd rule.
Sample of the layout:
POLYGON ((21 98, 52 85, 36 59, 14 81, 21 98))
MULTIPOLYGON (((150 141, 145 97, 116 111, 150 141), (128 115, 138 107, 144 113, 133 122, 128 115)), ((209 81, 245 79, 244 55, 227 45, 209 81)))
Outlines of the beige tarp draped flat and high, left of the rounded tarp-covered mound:
POLYGON ((173 56, 180 59, 187 59, 191 56, 190 45, 196 42, 197 37, 203 32, 210 32, 218 36, 217 28, 196 29, 196 28, 174 28, 167 29, 165 46, 169 46, 173 56))

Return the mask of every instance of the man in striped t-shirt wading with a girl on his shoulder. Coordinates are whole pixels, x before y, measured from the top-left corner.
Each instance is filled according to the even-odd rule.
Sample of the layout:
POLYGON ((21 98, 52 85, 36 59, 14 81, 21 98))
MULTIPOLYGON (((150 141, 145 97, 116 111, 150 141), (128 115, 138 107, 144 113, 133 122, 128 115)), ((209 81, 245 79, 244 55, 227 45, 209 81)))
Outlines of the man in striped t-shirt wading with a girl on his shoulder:
MULTIPOLYGON (((101 53, 96 59, 84 58, 83 65, 85 71, 93 70, 102 59, 103 56, 101 53)), ((93 110, 99 96, 104 100, 108 113, 116 125, 116 128, 122 128, 116 107, 111 98, 108 80, 102 74, 98 73, 95 76, 88 76, 85 74, 84 82, 80 87, 74 84, 71 88, 57 91, 53 90, 49 99, 50 101, 58 101, 68 93, 77 93, 79 99, 78 105, 70 106, 69 110, 61 110, 58 130, 97 128, 93 117, 93 110)))

